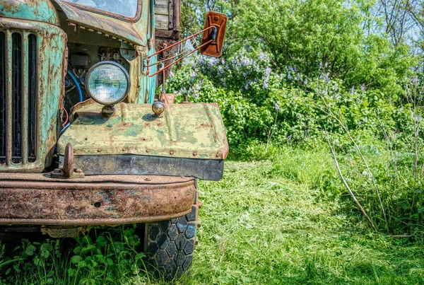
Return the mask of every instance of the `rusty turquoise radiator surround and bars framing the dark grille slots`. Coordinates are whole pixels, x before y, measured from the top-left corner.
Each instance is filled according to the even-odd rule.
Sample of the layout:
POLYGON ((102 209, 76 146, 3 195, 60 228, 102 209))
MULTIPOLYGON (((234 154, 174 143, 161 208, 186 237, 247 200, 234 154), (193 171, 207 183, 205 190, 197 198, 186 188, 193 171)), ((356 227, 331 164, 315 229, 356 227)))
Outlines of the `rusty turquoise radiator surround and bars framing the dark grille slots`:
MULTIPOLYGON (((6 130, 6 163, 0 163, 0 172, 41 172, 45 166, 52 161, 52 151, 57 140, 57 119, 61 104, 62 86, 64 80, 64 58, 66 57, 66 34, 55 25, 35 22, 16 20, 13 18, 0 18, 0 31, 6 33, 6 37, 10 37, 13 33, 21 35, 23 40, 22 59, 23 66, 22 80, 24 84, 23 95, 29 90, 28 74, 30 72, 28 64, 28 37, 36 36, 37 41, 37 122, 35 130, 36 138, 36 161, 26 161, 27 156, 23 155, 21 163, 13 163, 11 159, 12 144, 12 127, 11 127, 11 110, 12 106, 6 107, 8 117, 8 130, 6 130), (27 163, 28 162, 28 163, 27 163)), ((8 45, 10 47, 10 45, 8 45)), ((8 48, 8 66, 11 66, 11 50, 8 48)), ((11 72, 12 68, 8 67, 7 72, 11 72)), ((11 76, 8 76, 7 88, 8 93, 11 90, 11 76)), ((9 96, 10 97, 10 96, 9 96)), ((10 99, 10 98, 9 98, 10 99)), ((26 100, 26 99, 25 99, 26 100)), ((28 124, 28 106, 23 105, 23 139, 28 140, 28 133, 25 131, 28 124), (27 108, 27 109, 25 109, 27 108)), ((23 153, 28 153, 28 141, 24 141, 23 153)))

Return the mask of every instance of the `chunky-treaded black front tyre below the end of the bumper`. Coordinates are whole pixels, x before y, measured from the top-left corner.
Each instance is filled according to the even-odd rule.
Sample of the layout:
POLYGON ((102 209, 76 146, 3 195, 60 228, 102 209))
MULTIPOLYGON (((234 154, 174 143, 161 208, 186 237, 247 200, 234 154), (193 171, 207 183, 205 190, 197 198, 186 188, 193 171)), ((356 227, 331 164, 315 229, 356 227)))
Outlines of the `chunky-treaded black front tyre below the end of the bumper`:
POLYGON ((196 245, 199 203, 197 195, 192 211, 177 219, 146 223, 145 252, 148 270, 166 280, 189 274, 196 245))

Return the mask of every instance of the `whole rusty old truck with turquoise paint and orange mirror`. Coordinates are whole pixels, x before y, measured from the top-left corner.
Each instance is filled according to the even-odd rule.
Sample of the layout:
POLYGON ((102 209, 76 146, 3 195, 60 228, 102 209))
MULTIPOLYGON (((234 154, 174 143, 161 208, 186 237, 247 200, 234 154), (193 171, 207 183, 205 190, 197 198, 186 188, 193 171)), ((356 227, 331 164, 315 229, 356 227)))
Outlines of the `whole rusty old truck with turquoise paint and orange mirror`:
POLYGON ((218 105, 165 82, 196 50, 220 56, 227 17, 182 41, 179 18, 179 0, 0 1, 0 237, 134 224, 152 268, 187 272, 197 180, 222 178, 228 142, 218 105))

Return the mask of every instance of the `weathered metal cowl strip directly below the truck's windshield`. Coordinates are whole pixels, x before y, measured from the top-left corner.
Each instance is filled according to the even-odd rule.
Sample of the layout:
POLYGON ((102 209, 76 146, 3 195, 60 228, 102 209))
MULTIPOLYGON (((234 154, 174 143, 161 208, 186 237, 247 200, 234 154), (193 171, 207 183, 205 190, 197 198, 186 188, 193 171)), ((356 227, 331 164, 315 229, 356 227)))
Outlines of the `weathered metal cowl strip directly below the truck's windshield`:
MULTIPOLYGON (((65 13, 69 23, 96 30, 107 35, 112 35, 118 39, 130 42, 133 45, 140 45, 143 47, 146 46, 146 40, 144 40, 146 34, 141 33, 141 30, 144 29, 140 29, 141 27, 139 27, 141 23, 146 23, 146 21, 130 23, 124 20, 102 15, 100 13, 81 10, 80 8, 69 4, 69 2, 61 0, 52 1, 54 1, 59 6, 61 11, 65 13)), ((141 18, 143 17, 146 17, 145 13, 141 14, 141 18)))

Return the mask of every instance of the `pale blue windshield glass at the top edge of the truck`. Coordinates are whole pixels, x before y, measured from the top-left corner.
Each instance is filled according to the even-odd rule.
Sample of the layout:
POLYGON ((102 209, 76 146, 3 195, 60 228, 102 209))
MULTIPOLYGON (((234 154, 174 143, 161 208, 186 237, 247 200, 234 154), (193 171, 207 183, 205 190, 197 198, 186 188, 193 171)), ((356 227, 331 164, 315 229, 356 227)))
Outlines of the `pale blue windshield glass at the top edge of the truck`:
POLYGON ((73 4, 95 8, 107 13, 114 13, 128 18, 137 14, 139 0, 64 0, 73 4))

